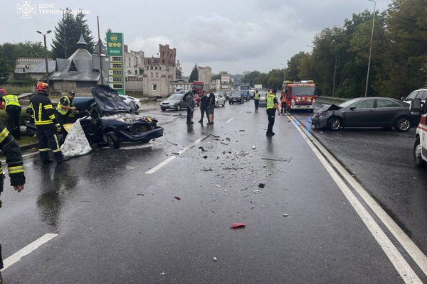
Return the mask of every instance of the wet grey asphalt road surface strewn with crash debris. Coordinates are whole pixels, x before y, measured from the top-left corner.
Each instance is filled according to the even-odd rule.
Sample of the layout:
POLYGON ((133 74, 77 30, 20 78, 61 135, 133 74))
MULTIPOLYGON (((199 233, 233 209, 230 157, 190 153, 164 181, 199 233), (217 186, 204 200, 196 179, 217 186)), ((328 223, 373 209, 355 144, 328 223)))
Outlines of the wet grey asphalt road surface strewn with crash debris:
MULTIPOLYGON (((95 148, 63 165, 41 165, 38 155, 25 159, 25 190, 18 194, 6 187, 1 195, 4 258, 44 234, 58 236, 7 268, 6 283, 403 283, 287 116, 277 117, 276 136, 268 138, 265 110, 255 114, 253 102, 216 109, 214 126, 187 126, 184 111, 149 112, 166 136, 140 148, 95 148), (231 230, 233 222, 246 228, 231 230)), ((196 109, 195 121, 199 115, 196 109)), ((357 131, 322 134, 357 137, 357 131)), ((375 137, 372 131, 362 135, 375 137)), ((353 164, 349 169, 374 196, 372 189, 381 184, 376 199, 384 197, 389 210, 394 207, 386 201, 401 207, 399 220, 410 212, 419 215, 408 219, 408 230, 417 219, 420 224, 411 238, 426 236, 423 172, 417 179, 394 176, 390 190, 382 175, 399 172, 397 165, 375 163, 374 150, 390 139, 365 142, 374 150, 359 155, 337 146, 336 138, 330 141, 333 153, 353 164), (366 173, 372 171, 368 162, 378 175, 366 173)), ((415 170, 409 162, 399 167, 407 176, 415 170)))

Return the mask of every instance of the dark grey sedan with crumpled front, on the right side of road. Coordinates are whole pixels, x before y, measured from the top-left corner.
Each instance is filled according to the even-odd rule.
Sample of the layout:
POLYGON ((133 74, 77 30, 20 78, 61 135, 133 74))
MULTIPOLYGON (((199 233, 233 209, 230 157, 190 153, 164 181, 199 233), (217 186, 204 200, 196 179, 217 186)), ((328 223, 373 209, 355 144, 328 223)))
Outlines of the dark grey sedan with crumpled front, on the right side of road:
POLYGON ((418 124, 419 116, 409 110, 409 104, 386 97, 364 97, 342 104, 323 105, 312 116, 312 126, 337 131, 344 127, 394 127, 408 131, 418 124))

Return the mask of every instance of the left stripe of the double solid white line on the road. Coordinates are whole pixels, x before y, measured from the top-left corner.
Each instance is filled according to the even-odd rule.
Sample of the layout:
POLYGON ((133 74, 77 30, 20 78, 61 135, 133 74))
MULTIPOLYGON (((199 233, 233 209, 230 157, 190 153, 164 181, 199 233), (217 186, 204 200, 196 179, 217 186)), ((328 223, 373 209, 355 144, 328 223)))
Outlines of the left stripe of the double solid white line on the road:
MULTIPOLYGON (((312 143, 312 139, 315 138, 312 136, 307 136, 304 131, 300 129, 300 126, 295 119, 295 117, 290 116, 292 118, 292 123, 297 128, 297 130, 300 132, 302 137, 305 138, 305 141, 307 142, 308 146, 312 149, 312 151, 315 153, 317 158, 319 158, 322 165, 325 167, 327 172, 330 174, 334 182, 338 185, 339 189, 342 191, 344 196, 349 200, 349 203, 352 204, 352 207, 357 212, 359 217, 362 219, 364 224, 367 226, 369 231, 371 232, 372 236, 376 239, 378 244, 381 246, 381 249, 383 249, 384 253, 386 253, 386 256, 389 258, 391 263, 393 264, 394 268, 396 268, 396 271, 401 275, 401 278, 404 279, 405 283, 422 283, 420 278, 418 278, 418 275, 413 271, 411 266, 408 265, 405 258, 399 253, 399 251, 396 249, 396 246, 390 241, 390 239, 386 236, 384 231, 380 228, 378 224, 376 224, 375 220, 367 209, 365 209, 362 205, 362 203, 359 202, 357 197, 353 194, 353 192, 347 187, 344 180, 339 177, 338 173, 332 168, 330 163, 326 160, 326 158, 320 153, 320 151, 316 148, 315 144, 312 143)), ((317 143, 318 144, 318 143, 317 143)), ((325 149, 326 151, 326 149, 325 149)), ((378 205, 377 205, 378 206, 378 205)))

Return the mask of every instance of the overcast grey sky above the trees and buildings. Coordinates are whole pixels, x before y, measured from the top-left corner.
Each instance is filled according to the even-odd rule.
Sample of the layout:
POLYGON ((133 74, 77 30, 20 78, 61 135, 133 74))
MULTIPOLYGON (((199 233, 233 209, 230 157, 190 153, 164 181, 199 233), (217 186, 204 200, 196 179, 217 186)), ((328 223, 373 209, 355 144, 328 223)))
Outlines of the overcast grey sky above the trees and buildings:
MULTIPOLYGON (((387 0, 377 0, 386 9, 387 0)), ((40 10, 85 9, 88 24, 97 38, 107 28, 125 34, 131 50, 157 56, 159 43, 176 48, 185 75, 194 63, 213 72, 246 70, 265 72, 283 67, 292 55, 310 51, 313 36, 322 28, 342 26, 345 18, 365 9, 367 0, 1 0, 1 41, 43 40, 36 31, 53 30, 59 14, 40 10), (36 4, 31 18, 21 18, 19 6, 36 4), (40 5, 54 8, 40 9, 40 5)), ((53 33, 48 35, 50 46, 53 33)))

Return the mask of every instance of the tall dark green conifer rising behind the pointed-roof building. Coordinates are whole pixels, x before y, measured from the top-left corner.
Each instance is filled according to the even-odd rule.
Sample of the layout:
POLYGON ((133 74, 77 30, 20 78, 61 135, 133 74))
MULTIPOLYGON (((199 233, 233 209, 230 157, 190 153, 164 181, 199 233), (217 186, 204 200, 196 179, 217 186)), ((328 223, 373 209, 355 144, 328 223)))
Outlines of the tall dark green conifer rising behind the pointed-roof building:
MULTIPOLYGON (((68 8, 65 10, 69 11, 68 8)), ((77 50, 77 43, 81 34, 83 34, 85 42, 88 43, 88 51, 92 53, 93 48, 95 48, 95 41, 88 23, 86 23, 88 20, 85 19, 85 14, 64 13, 63 15, 55 27, 55 38, 51 45, 52 58, 65 58, 65 41, 67 42, 67 57, 70 57, 77 50)))

